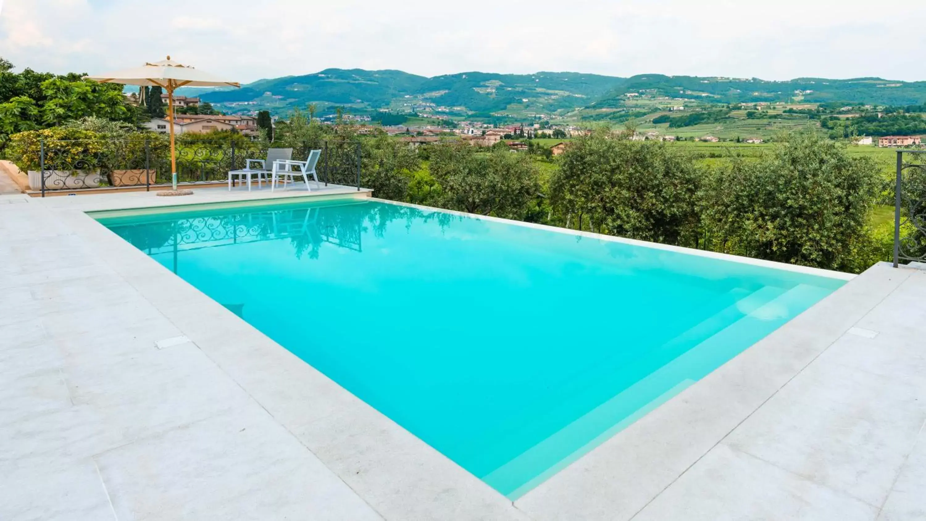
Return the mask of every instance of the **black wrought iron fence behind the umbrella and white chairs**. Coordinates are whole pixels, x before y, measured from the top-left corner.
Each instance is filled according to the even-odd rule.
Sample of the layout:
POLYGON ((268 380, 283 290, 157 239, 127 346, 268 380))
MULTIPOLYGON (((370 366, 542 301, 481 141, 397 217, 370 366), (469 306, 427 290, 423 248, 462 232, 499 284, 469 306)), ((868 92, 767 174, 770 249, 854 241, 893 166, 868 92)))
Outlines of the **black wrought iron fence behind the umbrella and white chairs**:
MULTIPOLYGON (((244 139, 181 140, 175 148, 177 180, 226 181, 228 172, 244 168, 247 159, 266 158, 267 148, 266 144, 244 139)), ((298 143, 293 147, 293 159, 304 161, 312 150, 321 151, 316 167, 319 182, 360 189, 360 143, 343 140, 298 143)), ((170 146, 166 139, 42 140, 37 152, 39 168, 29 172, 30 184, 43 197, 50 190, 79 191, 106 186, 151 190, 152 186, 171 182, 170 146)))

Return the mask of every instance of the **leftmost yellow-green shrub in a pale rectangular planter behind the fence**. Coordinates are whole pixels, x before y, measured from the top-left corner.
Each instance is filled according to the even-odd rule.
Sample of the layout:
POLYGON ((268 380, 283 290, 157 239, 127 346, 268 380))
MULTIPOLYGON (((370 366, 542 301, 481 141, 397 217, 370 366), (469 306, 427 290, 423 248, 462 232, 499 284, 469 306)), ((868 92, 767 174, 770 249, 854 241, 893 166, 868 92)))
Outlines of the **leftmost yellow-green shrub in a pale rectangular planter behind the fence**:
POLYGON ((32 190, 96 188, 101 184, 104 143, 90 130, 56 127, 27 130, 10 136, 10 157, 29 173, 32 190), (44 155, 44 157, 43 157, 44 155))

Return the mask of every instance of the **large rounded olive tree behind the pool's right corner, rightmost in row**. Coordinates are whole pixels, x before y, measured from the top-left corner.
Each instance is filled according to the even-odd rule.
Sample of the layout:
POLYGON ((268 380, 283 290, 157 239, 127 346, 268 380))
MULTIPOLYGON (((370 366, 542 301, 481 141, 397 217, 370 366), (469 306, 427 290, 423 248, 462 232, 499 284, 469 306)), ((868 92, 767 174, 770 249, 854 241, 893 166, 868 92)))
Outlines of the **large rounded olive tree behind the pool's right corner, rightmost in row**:
POLYGON ((859 271, 877 259, 868 217, 879 167, 812 132, 783 136, 755 161, 734 158, 704 192, 716 251, 802 266, 859 271))

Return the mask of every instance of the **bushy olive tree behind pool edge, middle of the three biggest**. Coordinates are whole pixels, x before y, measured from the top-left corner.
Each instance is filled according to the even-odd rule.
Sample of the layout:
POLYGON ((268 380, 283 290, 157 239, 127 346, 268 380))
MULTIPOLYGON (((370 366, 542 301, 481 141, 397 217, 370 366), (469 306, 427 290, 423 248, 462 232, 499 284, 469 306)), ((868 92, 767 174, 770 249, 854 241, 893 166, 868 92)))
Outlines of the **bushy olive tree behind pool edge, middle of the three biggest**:
POLYGON ((596 130, 560 155, 550 192, 567 226, 584 220, 612 235, 690 246, 698 233, 701 179, 680 149, 596 130))

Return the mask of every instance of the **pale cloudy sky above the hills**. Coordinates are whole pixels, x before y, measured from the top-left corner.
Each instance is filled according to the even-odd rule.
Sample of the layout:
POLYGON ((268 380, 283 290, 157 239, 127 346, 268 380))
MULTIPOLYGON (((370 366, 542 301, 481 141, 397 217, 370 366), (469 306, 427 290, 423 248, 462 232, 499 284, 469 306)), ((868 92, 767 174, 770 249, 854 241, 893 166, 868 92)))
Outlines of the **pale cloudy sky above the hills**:
POLYGON ((249 82, 323 68, 926 80, 926 2, 0 0, 0 56, 87 72, 170 55, 249 82))

